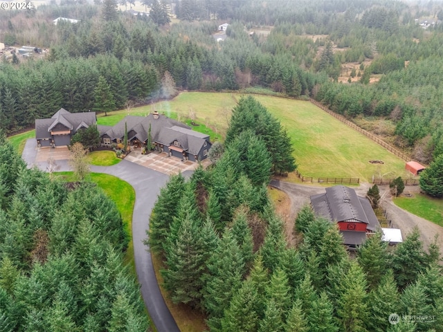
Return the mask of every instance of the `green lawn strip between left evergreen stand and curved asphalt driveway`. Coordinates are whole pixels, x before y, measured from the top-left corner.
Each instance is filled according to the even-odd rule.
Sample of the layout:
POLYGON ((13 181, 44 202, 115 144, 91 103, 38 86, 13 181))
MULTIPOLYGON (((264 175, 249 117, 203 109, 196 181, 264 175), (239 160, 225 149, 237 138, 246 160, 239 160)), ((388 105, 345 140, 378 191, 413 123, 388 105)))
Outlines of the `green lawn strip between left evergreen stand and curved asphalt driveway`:
MULTIPOLYGON (((58 172, 57 174, 64 176, 66 181, 74 181, 73 172, 58 172)), ((117 178, 116 176, 102 173, 90 173, 87 176, 87 181, 97 183, 107 196, 116 203, 118 211, 123 219, 123 228, 129 237, 129 245, 125 255, 125 264, 129 264, 135 275, 134 244, 132 243, 132 212, 136 201, 134 188, 129 185, 129 183, 120 180, 120 178, 117 178)))

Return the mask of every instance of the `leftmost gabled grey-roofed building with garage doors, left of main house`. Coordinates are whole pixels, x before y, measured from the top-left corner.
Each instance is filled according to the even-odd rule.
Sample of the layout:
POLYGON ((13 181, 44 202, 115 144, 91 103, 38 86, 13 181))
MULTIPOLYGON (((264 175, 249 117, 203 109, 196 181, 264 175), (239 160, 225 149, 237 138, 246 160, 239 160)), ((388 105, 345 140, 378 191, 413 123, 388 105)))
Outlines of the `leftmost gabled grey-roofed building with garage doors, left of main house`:
POLYGON ((50 119, 35 120, 35 139, 39 147, 69 145, 77 131, 96 123, 96 112, 70 113, 62 108, 50 119))

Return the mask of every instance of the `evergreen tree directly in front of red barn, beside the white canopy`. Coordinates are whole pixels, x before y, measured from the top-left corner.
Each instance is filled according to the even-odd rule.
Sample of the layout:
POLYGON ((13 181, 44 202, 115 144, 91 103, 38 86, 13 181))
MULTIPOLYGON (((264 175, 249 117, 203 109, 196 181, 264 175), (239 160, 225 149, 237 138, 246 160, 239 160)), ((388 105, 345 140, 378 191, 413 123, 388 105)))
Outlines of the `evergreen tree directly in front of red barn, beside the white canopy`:
POLYGON ((380 233, 374 234, 359 248, 357 257, 369 288, 375 288, 388 268, 388 244, 381 241, 380 233))

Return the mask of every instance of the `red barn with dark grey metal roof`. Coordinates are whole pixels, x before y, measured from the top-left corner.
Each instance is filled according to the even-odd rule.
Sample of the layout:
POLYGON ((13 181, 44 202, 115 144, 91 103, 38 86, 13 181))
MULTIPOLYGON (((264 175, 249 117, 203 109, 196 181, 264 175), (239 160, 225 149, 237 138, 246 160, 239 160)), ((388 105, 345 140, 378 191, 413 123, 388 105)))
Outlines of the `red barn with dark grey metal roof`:
POLYGON ((381 230, 368 199, 343 185, 326 188, 325 194, 311 196, 311 205, 318 216, 337 223, 343 243, 360 246, 370 233, 381 230))

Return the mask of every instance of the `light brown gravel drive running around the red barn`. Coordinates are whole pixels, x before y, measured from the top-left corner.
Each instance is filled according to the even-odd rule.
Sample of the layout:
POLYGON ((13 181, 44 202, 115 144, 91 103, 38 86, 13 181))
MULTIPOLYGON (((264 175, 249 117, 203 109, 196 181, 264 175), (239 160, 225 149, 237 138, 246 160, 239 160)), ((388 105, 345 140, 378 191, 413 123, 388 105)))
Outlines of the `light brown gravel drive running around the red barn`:
MULTIPOLYGON (((298 211, 300 211, 303 206, 310 203, 309 196, 325 192, 325 187, 299 185, 278 180, 271 181, 271 185, 288 194, 289 199, 291 200, 289 220, 291 220, 292 223, 295 220, 298 211)), ((354 187, 354 190, 359 196, 365 196, 369 187, 369 183, 361 183, 359 187, 354 187)), ((437 241, 440 244, 440 253, 443 255, 443 228, 435 223, 431 223, 431 221, 427 221, 415 214, 402 210, 395 205, 392 202, 388 186, 379 186, 379 190, 380 195, 383 198, 381 207, 388 212, 388 219, 392 221, 392 228, 401 229, 401 234, 403 235, 403 238, 405 238, 406 235, 412 232, 413 228, 417 226, 425 250, 428 249, 429 244, 433 242, 435 234, 437 234, 437 241)), ((291 227, 293 227, 293 225, 291 227)))

